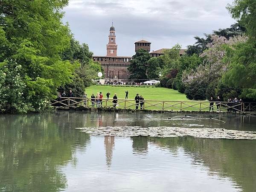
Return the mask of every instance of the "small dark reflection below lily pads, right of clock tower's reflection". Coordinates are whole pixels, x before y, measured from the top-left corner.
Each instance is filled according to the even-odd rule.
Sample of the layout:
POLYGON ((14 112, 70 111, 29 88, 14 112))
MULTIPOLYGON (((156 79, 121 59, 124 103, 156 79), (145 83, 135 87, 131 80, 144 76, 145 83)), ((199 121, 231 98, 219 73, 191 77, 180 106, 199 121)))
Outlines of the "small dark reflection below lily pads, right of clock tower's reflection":
POLYGON ((136 136, 131 137, 132 148, 134 154, 146 154, 148 153, 148 137, 136 136))

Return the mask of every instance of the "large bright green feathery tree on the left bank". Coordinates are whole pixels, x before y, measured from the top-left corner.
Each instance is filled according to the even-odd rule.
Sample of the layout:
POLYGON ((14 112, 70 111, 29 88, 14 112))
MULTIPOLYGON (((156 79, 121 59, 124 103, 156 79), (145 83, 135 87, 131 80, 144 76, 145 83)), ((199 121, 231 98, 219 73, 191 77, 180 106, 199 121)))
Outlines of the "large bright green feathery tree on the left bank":
MULTIPOLYGON (((68 0, 0 0, 0 71, 20 67, 17 75, 25 84, 22 100, 31 106, 25 111, 47 107, 49 97, 72 81, 78 67, 61 59, 61 53, 70 47, 70 29, 61 21, 61 10, 67 4, 68 0)), ((16 86, 8 76, 3 84, 1 98, 12 93, 9 87, 16 86)), ((19 112, 17 102, 0 102, 0 110, 19 112)))

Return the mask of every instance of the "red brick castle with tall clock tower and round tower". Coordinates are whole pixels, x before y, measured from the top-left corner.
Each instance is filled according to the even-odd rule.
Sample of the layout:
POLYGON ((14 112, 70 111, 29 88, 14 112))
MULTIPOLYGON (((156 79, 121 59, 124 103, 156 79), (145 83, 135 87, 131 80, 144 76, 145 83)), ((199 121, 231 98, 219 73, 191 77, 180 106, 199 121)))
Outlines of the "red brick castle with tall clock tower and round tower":
MULTIPOLYGON (((145 40, 137 41, 135 44, 135 52, 143 48, 147 50, 151 57, 158 57, 163 55, 164 50, 159 49, 157 51, 150 52, 151 43, 145 40)), ((186 49, 180 50, 180 55, 185 54, 186 49)), ((107 55, 96 56, 93 55, 93 61, 98 61, 104 68, 104 75, 107 81, 123 81, 126 82, 131 75, 128 71, 132 57, 131 56, 117 56, 117 44, 116 44, 116 30, 113 26, 110 27, 107 44, 107 55)))

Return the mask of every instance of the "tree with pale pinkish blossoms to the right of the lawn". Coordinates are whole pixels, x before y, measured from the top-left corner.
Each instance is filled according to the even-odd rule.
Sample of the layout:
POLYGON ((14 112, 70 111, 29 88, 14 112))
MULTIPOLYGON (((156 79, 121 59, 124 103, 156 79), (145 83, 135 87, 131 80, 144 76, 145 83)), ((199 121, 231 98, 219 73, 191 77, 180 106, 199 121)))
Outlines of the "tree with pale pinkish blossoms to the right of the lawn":
MULTIPOLYGON (((226 55, 226 48, 230 47, 230 49, 233 49, 236 44, 247 41, 247 36, 245 35, 235 36, 230 39, 212 35, 211 38, 212 42, 207 44, 207 50, 200 55, 204 60, 203 63, 195 70, 185 70, 182 75, 183 83, 187 88, 191 87, 189 86, 190 84, 204 82, 204 84, 209 87, 209 95, 214 93, 214 88, 217 86, 218 81, 227 71, 228 64, 223 61, 226 55), (210 84, 211 86, 209 86, 210 84)), ((207 89, 205 90, 204 95, 207 95, 207 89)))

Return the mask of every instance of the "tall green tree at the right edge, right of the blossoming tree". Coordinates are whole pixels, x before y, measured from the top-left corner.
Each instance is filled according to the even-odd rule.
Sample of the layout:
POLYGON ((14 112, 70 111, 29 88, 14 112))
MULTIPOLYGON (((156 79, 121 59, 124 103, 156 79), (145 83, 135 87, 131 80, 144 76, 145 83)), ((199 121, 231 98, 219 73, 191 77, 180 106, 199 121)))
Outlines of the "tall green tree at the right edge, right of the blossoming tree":
POLYGON ((256 99, 256 2, 234 0, 227 9, 234 19, 246 27, 249 40, 238 44, 235 49, 227 47, 225 61, 228 68, 223 81, 242 88, 243 96, 256 99))

